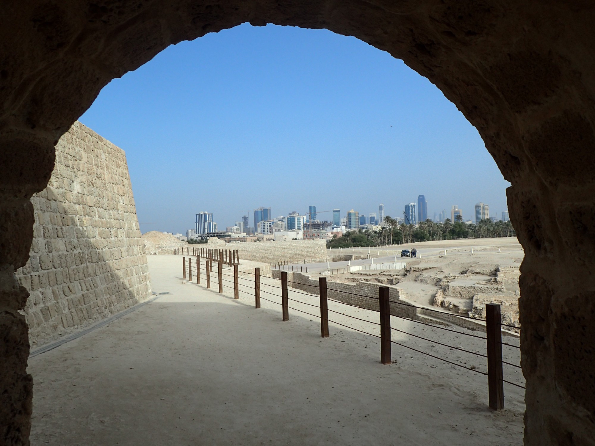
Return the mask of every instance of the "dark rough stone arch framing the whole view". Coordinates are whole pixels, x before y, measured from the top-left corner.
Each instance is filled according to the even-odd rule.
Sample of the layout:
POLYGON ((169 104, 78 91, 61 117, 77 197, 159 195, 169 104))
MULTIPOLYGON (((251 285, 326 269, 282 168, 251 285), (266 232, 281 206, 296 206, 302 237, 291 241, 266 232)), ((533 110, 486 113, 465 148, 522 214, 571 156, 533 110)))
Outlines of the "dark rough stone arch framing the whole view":
POLYGON ((595 8, 511 0, 32 0, 0 26, 0 438, 28 444, 30 196, 54 145, 112 78, 249 21, 325 28, 402 58, 477 127, 525 249, 525 444, 595 444, 595 8))

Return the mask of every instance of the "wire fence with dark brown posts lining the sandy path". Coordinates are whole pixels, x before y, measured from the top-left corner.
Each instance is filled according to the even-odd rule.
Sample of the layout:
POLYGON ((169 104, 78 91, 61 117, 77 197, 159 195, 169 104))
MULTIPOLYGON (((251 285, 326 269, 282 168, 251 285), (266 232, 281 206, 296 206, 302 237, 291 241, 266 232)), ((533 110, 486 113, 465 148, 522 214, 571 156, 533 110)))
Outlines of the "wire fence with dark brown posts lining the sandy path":
MULTIPOLYGON (((209 253, 209 256, 211 253, 209 253)), ((223 254, 219 254, 217 257, 201 257, 201 254, 198 253, 196 257, 186 257, 183 258, 183 277, 189 279, 190 281, 196 281, 197 284, 204 283, 206 287, 211 287, 213 282, 216 282, 220 292, 223 292, 223 287, 233 288, 234 290, 234 297, 235 299, 239 299, 239 292, 253 295, 255 297, 255 306, 257 308, 260 307, 260 301, 265 300, 270 303, 274 303, 281 306, 283 312, 283 321, 289 320, 289 310, 294 310, 299 313, 303 313, 305 315, 312 316, 314 318, 318 318, 321 321, 321 332, 323 337, 328 337, 328 322, 336 324, 338 326, 342 326, 348 329, 352 329, 363 334, 380 338, 381 342, 381 362, 383 363, 390 363, 391 360, 391 353, 390 353, 390 345, 396 344, 400 347, 406 348, 408 350, 415 351, 419 354, 432 357, 434 359, 440 360, 442 362, 448 363, 450 365, 456 366, 458 368, 466 369, 474 373, 479 373, 480 375, 488 376, 488 388, 490 395, 490 407, 493 409, 502 409, 504 407, 504 391, 503 391, 503 384, 510 384, 518 388, 524 389, 525 387, 518 382, 509 381, 504 379, 503 376, 503 366, 511 367, 513 369, 521 369, 521 366, 512 362, 508 362, 503 359, 502 353, 502 346, 508 346, 512 348, 518 349, 519 346, 515 346, 514 344, 505 343, 502 341, 502 326, 512 326, 502 323, 501 316, 500 316, 500 306, 499 304, 486 304, 486 319, 481 319, 486 322, 486 336, 480 336, 477 334, 472 334, 466 331, 459 331, 452 328, 448 328, 446 326, 441 325, 434 325, 428 322, 424 322, 419 320, 419 318, 414 317, 407 317, 399 314, 394 314, 391 312, 391 304, 396 304, 397 306, 408 306, 414 307, 415 309, 422 309, 422 310, 429 310, 427 307, 420 307, 414 304, 405 303, 398 300, 390 300, 389 299, 389 288, 388 287, 378 287, 378 297, 374 296, 366 296, 364 294, 358 293, 351 293, 345 290, 336 290, 334 288, 327 287, 327 280, 324 277, 320 278, 318 285, 312 284, 303 284, 300 282, 289 281, 287 279, 287 272, 280 271, 281 278, 274 279, 275 283, 278 285, 273 285, 267 282, 261 282, 259 268, 255 268, 253 274, 250 274, 250 277, 242 277, 239 274, 239 269, 237 263, 233 263, 234 260, 237 259, 233 254, 228 255, 227 257, 223 254), (215 258, 221 259, 218 262, 215 262, 215 258), (228 263, 224 263, 225 260, 228 263), (224 278, 225 277, 225 278, 224 278), (231 278, 227 279, 227 277, 231 278), (240 283, 240 280, 242 283, 240 283), (291 288, 292 293, 307 296, 309 299, 318 297, 320 299, 320 303, 314 304, 311 302, 306 302, 303 300, 294 299, 293 297, 288 296, 288 283, 302 286, 309 286, 313 288, 312 294, 305 293, 300 290, 296 290, 295 288, 291 288), (262 289, 262 285, 267 287, 266 289, 262 289), (242 287, 240 290, 239 287, 242 287), (248 291, 246 291, 248 290, 248 291), (344 302, 337 299, 329 299, 327 296, 328 291, 334 291, 336 293, 345 293, 347 295, 353 295, 358 297, 364 297, 365 299, 370 299, 378 303, 379 309, 378 310, 371 310, 369 308, 364 308, 352 303, 344 302), (270 299, 261 296, 261 293, 267 294, 270 299), (274 299, 275 298, 275 299, 274 299), (278 301, 280 298, 280 301, 278 301), (320 314, 315 314, 312 312, 305 311, 304 309, 299 309, 296 307, 295 304, 293 306, 289 306, 289 302, 292 301, 296 304, 303 304, 307 307, 315 307, 319 310, 320 314), (332 302, 333 304, 342 304, 346 307, 355 307, 359 310, 367 310, 368 312, 372 312, 372 314, 380 313, 380 318, 377 321, 371 321, 369 319, 358 318, 352 314, 348 314, 345 312, 340 312, 333 309, 328 309, 328 301, 332 302), (380 327, 380 335, 375 334, 373 332, 365 331, 364 329, 355 327, 353 325, 346 325, 346 321, 336 321, 334 319, 328 318, 328 313, 333 313, 338 316, 342 316, 347 318, 347 320, 359 321, 364 323, 369 323, 371 326, 376 328, 380 327), (442 331, 450 332, 456 335, 461 335, 462 337, 469 337, 469 338, 476 338, 483 341, 486 341, 486 353, 480 353, 478 351, 472 351, 468 348, 463 348, 461 346, 453 346, 447 343, 444 339, 436 340, 431 339, 429 337, 424 337, 418 334, 414 334, 410 331, 405 331, 400 328, 396 328, 390 325, 390 316, 393 316, 397 319, 403 319, 405 321, 415 322, 417 324, 421 324, 424 326, 431 327, 433 329, 439 329, 442 331), (420 350, 419 348, 412 347, 403 343, 403 341, 395 341, 392 339, 392 332, 397 332, 401 335, 405 335, 407 338, 411 339, 418 339, 424 341, 426 343, 430 343, 433 346, 441 346, 446 347, 451 350, 460 351, 467 355, 471 355, 472 357, 480 358, 481 360, 487 360, 487 368, 486 371, 480 370, 475 366, 467 366, 457 362, 456 360, 452 360, 452 358, 446 359, 444 357, 439 356, 438 354, 428 353, 428 351, 420 350)), ((243 272, 242 274, 248 274, 243 272)), ((439 310, 436 310, 439 313, 439 310)), ((367 313, 370 315, 370 313, 367 313)), ((450 313, 445 313, 450 314, 450 313)), ((456 317, 465 317, 463 315, 456 315, 456 317)), ((466 316, 469 319, 476 319, 466 316)), ((513 328, 518 328, 516 326, 512 326, 513 328)))

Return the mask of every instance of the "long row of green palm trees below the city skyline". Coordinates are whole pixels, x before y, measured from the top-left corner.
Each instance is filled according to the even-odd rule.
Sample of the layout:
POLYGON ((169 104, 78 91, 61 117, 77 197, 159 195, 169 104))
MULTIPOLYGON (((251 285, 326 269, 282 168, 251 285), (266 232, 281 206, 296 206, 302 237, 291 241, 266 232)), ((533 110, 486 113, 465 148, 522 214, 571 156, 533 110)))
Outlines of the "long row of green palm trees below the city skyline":
POLYGON ((384 217, 384 226, 380 230, 352 230, 342 237, 333 236, 328 241, 329 248, 350 248, 359 246, 383 246, 415 241, 452 240, 457 238, 511 237, 515 230, 509 221, 492 221, 491 218, 478 223, 464 223, 457 215, 453 223, 450 218, 443 223, 431 219, 417 225, 399 224, 396 219, 384 217))

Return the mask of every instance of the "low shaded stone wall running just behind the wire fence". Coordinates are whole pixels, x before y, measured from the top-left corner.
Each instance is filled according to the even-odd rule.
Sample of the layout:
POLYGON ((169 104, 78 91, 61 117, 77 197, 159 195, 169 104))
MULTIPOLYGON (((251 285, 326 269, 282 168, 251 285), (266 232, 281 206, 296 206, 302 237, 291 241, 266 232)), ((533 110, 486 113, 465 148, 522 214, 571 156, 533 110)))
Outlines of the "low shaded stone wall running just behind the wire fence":
MULTIPOLYGON (((273 269, 273 277, 280 279, 281 271, 273 269)), ((318 293, 318 281, 312 279, 309 275, 301 272, 287 272, 287 280, 290 281, 288 287, 296 290, 306 291, 307 293, 318 293)), ((327 297, 328 299, 338 300, 340 302, 355 305, 367 310, 378 311, 380 305, 378 303, 378 287, 386 285, 374 284, 372 282, 357 282, 343 283, 327 281, 327 297)), ((417 309, 415 307, 406 306, 405 304, 394 303, 394 301, 401 300, 399 296, 399 288, 389 286, 390 314, 393 316, 401 316, 403 318, 415 318, 417 309)))

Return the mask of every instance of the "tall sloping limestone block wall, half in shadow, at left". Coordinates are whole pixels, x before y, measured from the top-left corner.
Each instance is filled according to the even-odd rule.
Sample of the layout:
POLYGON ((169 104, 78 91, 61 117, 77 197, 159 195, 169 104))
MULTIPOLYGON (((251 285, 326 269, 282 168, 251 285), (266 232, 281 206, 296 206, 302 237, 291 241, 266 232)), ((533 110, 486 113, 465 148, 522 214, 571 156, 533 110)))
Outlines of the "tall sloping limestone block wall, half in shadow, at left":
POLYGON ((83 124, 56 146, 48 187, 33 195, 33 243, 15 276, 32 346, 120 312, 151 294, 126 155, 83 124))

